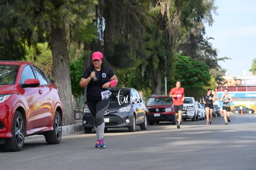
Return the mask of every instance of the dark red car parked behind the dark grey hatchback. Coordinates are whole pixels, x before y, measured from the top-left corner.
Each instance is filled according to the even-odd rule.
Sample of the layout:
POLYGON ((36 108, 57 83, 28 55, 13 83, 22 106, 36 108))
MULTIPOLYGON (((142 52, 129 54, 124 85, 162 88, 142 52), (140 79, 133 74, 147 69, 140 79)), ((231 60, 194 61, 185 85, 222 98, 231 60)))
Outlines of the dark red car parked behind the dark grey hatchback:
POLYGON ((146 107, 150 125, 160 121, 171 121, 172 124, 176 125, 173 98, 168 95, 152 95, 148 98, 146 107))

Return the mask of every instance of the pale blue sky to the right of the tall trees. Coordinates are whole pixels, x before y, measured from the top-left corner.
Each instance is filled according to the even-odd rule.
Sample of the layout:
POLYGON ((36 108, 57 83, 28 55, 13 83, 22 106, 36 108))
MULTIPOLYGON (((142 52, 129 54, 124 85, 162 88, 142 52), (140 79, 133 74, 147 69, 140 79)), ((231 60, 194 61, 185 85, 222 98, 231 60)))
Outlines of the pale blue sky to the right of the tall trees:
POLYGON ((206 36, 211 40, 218 57, 231 59, 218 64, 228 70, 228 76, 251 75, 253 59, 256 59, 256 1, 215 0, 217 14, 214 22, 206 26, 206 36))

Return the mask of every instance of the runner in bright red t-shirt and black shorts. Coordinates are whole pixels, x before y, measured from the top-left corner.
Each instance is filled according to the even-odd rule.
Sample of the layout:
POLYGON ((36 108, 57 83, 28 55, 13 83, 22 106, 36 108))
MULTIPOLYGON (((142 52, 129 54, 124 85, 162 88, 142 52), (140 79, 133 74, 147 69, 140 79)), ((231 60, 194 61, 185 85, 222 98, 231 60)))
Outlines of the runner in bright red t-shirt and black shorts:
POLYGON ((185 98, 184 88, 181 87, 181 82, 176 82, 176 87, 172 88, 169 96, 173 98, 174 111, 177 119, 177 129, 181 127, 183 101, 185 98))

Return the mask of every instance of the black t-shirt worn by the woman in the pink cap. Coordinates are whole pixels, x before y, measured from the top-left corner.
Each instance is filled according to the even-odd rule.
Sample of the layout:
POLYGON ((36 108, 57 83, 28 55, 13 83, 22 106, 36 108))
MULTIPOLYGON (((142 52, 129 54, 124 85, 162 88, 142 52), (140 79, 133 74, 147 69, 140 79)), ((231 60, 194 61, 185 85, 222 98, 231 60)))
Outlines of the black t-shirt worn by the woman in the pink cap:
POLYGON ((109 82, 109 79, 113 77, 114 72, 113 70, 109 69, 108 67, 101 66, 101 70, 97 71, 94 69, 93 66, 88 67, 85 72, 83 73, 83 78, 87 79, 91 72, 94 71, 96 73, 96 78, 98 80, 91 80, 87 85, 87 95, 88 96, 95 96, 101 97, 101 91, 106 90, 106 88, 102 88, 102 85, 106 82, 109 82))

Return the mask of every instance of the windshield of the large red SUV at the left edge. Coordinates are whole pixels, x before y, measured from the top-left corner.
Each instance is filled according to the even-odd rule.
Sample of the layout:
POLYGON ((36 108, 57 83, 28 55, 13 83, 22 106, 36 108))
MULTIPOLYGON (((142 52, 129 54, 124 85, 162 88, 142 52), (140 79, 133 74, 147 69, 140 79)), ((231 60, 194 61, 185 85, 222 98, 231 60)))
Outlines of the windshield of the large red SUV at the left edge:
POLYGON ((15 83, 19 66, 0 65, 0 85, 12 85, 15 83))

